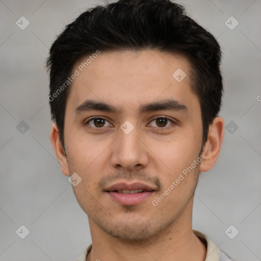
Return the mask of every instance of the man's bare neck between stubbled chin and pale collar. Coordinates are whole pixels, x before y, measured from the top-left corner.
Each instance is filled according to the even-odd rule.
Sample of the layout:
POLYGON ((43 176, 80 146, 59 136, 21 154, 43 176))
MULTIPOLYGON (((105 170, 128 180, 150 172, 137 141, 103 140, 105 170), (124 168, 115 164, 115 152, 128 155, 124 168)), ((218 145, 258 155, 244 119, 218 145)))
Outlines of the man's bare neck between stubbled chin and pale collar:
POLYGON ((193 198, 174 223, 162 230, 157 237, 143 241, 112 237, 89 219, 92 250, 87 261, 205 260, 205 246, 192 230, 192 204, 193 198))

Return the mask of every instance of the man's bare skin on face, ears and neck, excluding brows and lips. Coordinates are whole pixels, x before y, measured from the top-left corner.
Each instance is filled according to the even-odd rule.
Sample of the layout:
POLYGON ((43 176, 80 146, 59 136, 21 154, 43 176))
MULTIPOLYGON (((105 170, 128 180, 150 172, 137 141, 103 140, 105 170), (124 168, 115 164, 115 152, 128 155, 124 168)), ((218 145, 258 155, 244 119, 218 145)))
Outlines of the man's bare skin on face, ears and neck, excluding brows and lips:
POLYGON ((67 156, 55 123, 50 139, 64 175, 76 172, 82 178, 73 191, 88 215, 93 243, 88 261, 205 259, 205 246, 192 231, 193 195, 199 172, 210 170, 218 159, 224 122, 216 117, 202 144, 200 103, 190 87, 190 70, 189 61, 178 55, 111 51, 101 53, 73 81, 65 112, 67 156), (172 76, 178 68, 187 74, 180 83, 172 76), (75 111, 87 99, 107 102, 119 112, 75 111), (182 103, 187 111, 139 115, 141 105, 166 99, 182 103), (107 121, 94 125, 89 121, 94 116, 107 121), (156 117, 170 121, 159 125, 156 117), (120 128, 126 120, 134 126, 129 134, 120 128), (153 206, 151 201, 192 165, 202 147, 201 163, 153 206), (125 206, 103 191, 116 181, 141 181, 156 191, 141 204, 125 206))

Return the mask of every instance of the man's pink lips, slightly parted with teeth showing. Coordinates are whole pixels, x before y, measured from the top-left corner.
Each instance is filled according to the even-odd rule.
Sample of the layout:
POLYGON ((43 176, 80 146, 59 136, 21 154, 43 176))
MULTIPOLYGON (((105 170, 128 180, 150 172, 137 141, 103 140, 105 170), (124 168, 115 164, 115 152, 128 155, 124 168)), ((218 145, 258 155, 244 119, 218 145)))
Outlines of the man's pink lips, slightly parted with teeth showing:
POLYGON ((136 182, 126 184, 124 182, 117 183, 105 192, 110 196, 110 199, 121 205, 138 205, 150 198, 156 189, 152 186, 136 182))

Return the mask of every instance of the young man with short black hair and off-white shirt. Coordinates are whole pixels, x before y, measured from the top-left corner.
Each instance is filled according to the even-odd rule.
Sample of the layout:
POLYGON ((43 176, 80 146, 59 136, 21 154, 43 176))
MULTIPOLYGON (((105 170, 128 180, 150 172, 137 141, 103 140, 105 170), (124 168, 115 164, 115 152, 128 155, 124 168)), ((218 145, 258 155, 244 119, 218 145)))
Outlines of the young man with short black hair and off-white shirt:
POLYGON ((88 215, 78 260, 231 260, 192 230, 224 135, 220 46, 168 0, 87 10, 50 49, 50 139, 88 215))

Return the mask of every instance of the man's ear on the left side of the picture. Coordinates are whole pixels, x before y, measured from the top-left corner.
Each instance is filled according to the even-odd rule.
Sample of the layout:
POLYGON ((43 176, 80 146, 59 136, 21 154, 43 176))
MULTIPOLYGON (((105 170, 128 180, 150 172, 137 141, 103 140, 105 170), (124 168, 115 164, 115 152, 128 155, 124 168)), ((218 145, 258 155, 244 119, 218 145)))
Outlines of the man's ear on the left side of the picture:
POLYGON ((65 155, 63 145, 60 140, 59 130, 58 130, 56 123, 54 123, 53 127, 51 128, 50 140, 51 140, 51 144, 53 144, 56 158, 57 158, 59 164, 61 165, 61 170, 62 170, 63 174, 66 176, 70 176, 67 157, 65 155))

